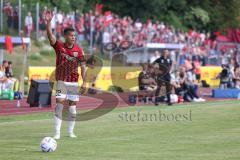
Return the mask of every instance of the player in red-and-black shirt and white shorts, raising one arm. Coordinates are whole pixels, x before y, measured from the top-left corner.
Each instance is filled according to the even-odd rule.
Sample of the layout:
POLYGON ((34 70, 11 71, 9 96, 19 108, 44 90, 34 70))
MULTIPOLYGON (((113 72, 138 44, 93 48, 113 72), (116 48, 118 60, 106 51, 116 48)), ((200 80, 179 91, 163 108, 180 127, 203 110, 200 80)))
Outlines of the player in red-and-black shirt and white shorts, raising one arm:
POLYGON ((51 20, 53 14, 48 11, 45 16, 47 21, 47 36, 51 46, 56 53, 56 108, 54 115, 55 136, 54 139, 60 139, 60 130, 62 124, 62 110, 64 103, 68 104, 68 135, 76 138, 73 132, 76 120, 76 102, 79 101, 78 88, 78 65, 81 65, 81 76, 83 79, 82 89, 86 89, 86 67, 82 48, 75 44, 75 31, 73 28, 64 29, 65 42, 56 40, 52 33, 51 20))

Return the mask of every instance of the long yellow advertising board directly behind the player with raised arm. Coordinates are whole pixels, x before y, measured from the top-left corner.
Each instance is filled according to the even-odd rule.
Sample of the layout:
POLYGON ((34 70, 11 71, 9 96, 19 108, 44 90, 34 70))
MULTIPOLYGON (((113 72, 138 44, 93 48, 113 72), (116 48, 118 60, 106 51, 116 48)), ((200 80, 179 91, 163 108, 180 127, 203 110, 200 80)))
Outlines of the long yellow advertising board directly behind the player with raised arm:
MULTIPOLYGON (((28 70, 28 86, 32 79, 55 80, 55 67, 29 67, 28 70)), ((79 68, 79 75, 80 75, 79 68)), ((95 67, 87 68, 87 85, 89 85, 94 77, 96 77, 96 87, 102 90, 108 90, 110 86, 119 86, 123 90, 134 88, 138 85, 139 67, 95 67)), ((79 84, 82 79, 79 76, 79 84)))

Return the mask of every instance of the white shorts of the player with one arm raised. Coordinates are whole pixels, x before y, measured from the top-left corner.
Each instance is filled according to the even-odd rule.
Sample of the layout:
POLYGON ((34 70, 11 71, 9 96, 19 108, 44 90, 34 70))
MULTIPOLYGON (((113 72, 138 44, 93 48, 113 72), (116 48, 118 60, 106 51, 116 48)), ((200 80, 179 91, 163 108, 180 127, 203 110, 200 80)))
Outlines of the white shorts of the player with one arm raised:
POLYGON ((79 101, 78 82, 57 81, 56 98, 79 101))

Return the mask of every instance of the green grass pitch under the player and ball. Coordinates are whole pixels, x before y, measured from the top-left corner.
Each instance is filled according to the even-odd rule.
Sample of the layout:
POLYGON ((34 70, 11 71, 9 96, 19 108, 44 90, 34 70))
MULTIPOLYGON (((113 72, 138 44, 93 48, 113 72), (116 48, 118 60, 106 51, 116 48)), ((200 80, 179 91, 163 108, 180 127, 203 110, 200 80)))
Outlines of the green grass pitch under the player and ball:
POLYGON ((53 153, 39 150, 41 139, 54 134, 52 113, 3 116, 0 159, 239 160, 239 115, 239 101, 118 108, 97 119, 77 122, 77 139, 66 137, 64 122, 53 153), (177 115, 181 117, 176 119, 177 115))

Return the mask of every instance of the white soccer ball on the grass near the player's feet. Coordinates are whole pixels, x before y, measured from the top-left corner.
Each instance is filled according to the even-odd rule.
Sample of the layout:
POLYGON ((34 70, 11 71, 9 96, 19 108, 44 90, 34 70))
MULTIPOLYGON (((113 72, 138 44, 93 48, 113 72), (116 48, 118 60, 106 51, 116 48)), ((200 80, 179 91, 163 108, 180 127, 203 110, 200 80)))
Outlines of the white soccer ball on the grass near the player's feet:
POLYGON ((57 149, 57 142, 51 137, 45 137, 40 143, 42 152, 54 152, 57 149))

